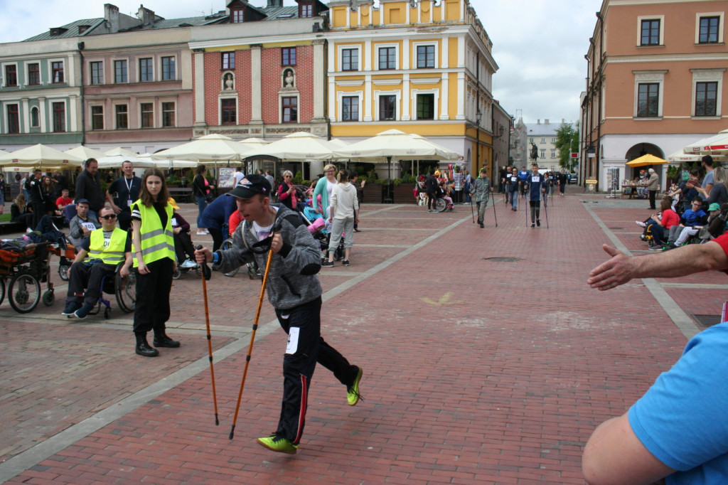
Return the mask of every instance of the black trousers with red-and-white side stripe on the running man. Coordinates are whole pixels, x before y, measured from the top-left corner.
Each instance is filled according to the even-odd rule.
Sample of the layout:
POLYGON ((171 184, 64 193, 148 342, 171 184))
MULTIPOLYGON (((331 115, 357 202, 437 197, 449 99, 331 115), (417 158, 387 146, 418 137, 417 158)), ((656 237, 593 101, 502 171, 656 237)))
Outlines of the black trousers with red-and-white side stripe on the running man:
POLYGON ((288 348, 283 357, 283 401, 276 434, 298 444, 304 432, 316 363, 328 368, 346 386, 354 383, 359 368, 352 366, 321 337, 321 297, 293 309, 276 309, 276 316, 288 334, 288 348))

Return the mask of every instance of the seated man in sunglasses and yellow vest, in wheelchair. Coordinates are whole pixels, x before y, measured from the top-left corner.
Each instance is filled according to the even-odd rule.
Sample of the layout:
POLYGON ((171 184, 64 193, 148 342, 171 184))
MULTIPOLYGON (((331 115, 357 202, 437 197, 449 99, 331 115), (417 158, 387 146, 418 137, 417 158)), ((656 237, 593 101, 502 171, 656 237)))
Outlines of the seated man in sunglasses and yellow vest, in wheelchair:
POLYGON ((66 309, 61 315, 69 318, 86 318, 101 296, 103 277, 114 275, 119 264, 123 263, 122 277, 129 275, 132 265, 130 234, 116 227, 116 213, 108 206, 101 208, 99 219, 101 228, 84 238, 74 264, 68 270, 66 309))

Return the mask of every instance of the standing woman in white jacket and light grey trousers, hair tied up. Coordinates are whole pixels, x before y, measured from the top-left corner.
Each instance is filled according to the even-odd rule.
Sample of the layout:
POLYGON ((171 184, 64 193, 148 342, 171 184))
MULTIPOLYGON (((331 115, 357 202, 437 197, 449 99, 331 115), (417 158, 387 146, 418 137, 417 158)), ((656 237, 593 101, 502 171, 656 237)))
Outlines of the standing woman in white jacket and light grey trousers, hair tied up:
POLYGON ((328 261, 321 264, 323 267, 333 267, 333 252, 339 246, 341 234, 344 234, 344 261, 341 261, 341 264, 349 266, 349 254, 354 245, 354 223, 359 224, 357 188, 349 184, 349 172, 339 170, 336 180, 339 183, 333 186, 329 198, 328 221, 333 223, 333 228, 328 243, 328 261))

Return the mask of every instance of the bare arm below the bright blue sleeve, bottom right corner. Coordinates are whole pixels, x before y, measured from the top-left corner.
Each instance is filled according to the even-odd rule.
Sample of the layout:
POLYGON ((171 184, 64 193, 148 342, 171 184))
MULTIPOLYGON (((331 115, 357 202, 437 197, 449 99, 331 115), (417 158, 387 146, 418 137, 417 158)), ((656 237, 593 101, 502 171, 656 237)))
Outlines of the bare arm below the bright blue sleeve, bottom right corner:
POLYGON ((590 485, 652 484, 673 471, 639 441, 626 413, 599 425, 582 455, 582 472, 590 485))

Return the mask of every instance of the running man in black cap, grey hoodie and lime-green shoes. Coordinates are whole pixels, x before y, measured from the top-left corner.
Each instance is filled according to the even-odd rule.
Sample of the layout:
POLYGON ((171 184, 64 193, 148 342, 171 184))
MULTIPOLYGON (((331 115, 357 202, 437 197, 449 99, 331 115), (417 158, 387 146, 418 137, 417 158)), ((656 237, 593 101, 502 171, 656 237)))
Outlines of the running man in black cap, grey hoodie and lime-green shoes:
MULTIPOLYGON (((286 334, 283 357, 283 401, 277 430, 258 438, 258 444, 274 452, 294 454, 304 431, 311 378, 316 363, 333 372, 346 386, 347 402, 360 400, 362 368, 353 366, 321 336, 321 293, 316 274, 321 251, 298 214, 270 202, 271 185, 264 176, 243 178, 226 195, 235 198, 244 219, 235 231, 232 247, 210 252, 195 251, 197 262, 213 263, 219 272, 230 272, 250 261, 266 267, 272 251, 266 291, 286 334)), ((343 397, 343 396, 342 396, 343 397)))

